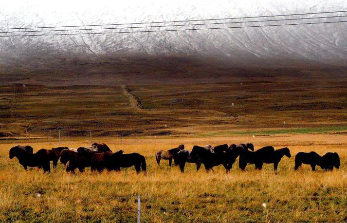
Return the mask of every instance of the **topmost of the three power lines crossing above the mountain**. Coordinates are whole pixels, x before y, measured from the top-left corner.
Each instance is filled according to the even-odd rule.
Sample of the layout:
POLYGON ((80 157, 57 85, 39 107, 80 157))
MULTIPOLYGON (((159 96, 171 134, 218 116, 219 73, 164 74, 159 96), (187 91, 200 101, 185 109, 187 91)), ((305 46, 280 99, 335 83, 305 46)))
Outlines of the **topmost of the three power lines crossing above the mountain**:
POLYGON ((248 17, 232 17, 232 18, 215 18, 215 19, 188 19, 188 20, 152 21, 152 22, 132 22, 132 23, 114 23, 114 24, 94 24, 94 25, 70 25, 70 26, 43 26, 43 27, 0 28, 0 30, 11 30, 11 29, 45 29, 45 28, 69 28, 69 27, 112 26, 112 25, 138 25, 138 24, 152 24, 152 23, 173 23, 173 22, 213 21, 213 20, 228 20, 228 19, 255 19, 255 18, 285 17, 285 16, 302 16, 302 15, 331 14, 331 13, 345 13, 345 12, 347 12, 347 10, 341 10, 341 11, 327 11, 327 12, 311 12, 311 13, 295 13, 295 14, 282 14, 282 15, 268 15, 268 16, 248 16, 248 17))

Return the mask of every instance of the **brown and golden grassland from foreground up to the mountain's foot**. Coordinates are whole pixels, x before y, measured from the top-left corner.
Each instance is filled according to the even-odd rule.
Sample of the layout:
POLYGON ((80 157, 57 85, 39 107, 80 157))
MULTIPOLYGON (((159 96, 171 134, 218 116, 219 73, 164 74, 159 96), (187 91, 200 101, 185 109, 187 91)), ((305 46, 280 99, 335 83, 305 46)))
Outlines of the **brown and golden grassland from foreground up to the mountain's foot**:
POLYGON ((0 77, 16 82, 0 83, 1 222, 135 222, 138 195, 143 222, 265 222, 266 214, 270 222, 347 222, 345 73, 229 75, 211 68, 204 76, 194 69, 177 75, 127 69, 96 76, 39 73, 28 75, 25 85, 14 75, 0 77), (145 155, 147 175, 133 168, 68 174, 61 164, 43 174, 9 159, 18 144, 56 147, 58 129, 62 146, 103 142, 113 151, 145 155), (180 144, 247 142, 256 149, 288 147, 292 158, 284 157, 277 172, 271 165, 241 172, 236 162, 229 174, 223 167, 196 172, 192 164, 182 174, 165 161, 159 167, 154 157, 180 144), (294 171, 295 154, 312 150, 338 152, 340 169, 294 171))

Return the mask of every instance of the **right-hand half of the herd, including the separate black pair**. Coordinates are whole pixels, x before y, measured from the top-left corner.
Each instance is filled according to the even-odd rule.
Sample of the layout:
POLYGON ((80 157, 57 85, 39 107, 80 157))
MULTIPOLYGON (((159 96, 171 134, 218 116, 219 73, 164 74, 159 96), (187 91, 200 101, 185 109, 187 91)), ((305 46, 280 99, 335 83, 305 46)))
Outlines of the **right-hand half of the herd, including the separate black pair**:
MULTIPOLYGON (((239 157, 238 165, 241 170, 245 170, 248 164, 254 164, 256 169, 262 169, 263 164, 274 164, 274 170, 277 170, 278 164, 283 156, 290 158, 292 155, 287 147, 282 149, 274 149, 272 146, 266 146, 254 151, 252 143, 219 145, 213 147, 211 145, 205 147, 194 146, 191 151, 184 149, 184 145, 180 145, 174 149, 167 151, 158 150, 155 157, 158 165, 161 159, 169 160, 171 166, 172 160, 176 166, 179 166, 181 172, 184 172, 186 163, 195 163, 197 170, 201 164, 204 165, 206 171, 213 170, 213 167, 223 165, 226 172, 233 167, 237 157, 239 157)), ((324 156, 320 156, 316 152, 299 152, 295 156, 295 167, 297 170, 302 164, 308 164, 314 171, 316 166, 324 170, 332 170, 333 167, 340 167, 340 157, 336 152, 327 152, 324 156)))

